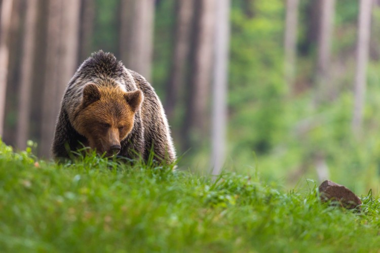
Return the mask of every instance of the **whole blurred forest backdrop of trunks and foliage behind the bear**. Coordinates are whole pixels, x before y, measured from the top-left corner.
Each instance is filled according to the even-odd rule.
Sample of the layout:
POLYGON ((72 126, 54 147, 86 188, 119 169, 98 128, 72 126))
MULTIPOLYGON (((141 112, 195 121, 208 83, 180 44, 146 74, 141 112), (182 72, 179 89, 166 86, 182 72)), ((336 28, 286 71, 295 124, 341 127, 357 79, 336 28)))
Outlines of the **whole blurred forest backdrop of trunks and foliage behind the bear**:
POLYGON ((2 0, 1 8, 0 136, 16 149, 32 140, 36 155, 50 157, 65 87, 103 50, 155 88, 180 168, 210 173, 219 148, 225 172, 378 193, 378 0, 2 0))

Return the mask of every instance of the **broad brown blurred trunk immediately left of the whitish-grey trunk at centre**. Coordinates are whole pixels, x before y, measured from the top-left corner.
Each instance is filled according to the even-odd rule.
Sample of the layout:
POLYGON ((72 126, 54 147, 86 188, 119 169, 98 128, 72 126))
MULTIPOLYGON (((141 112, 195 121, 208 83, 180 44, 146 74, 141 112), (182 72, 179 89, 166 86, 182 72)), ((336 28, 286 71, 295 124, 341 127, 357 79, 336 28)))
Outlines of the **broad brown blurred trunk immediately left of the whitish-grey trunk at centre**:
POLYGON ((193 138, 206 136, 208 101, 211 81, 215 0, 197 0, 192 34, 188 96, 183 125, 184 149, 192 146, 193 138))

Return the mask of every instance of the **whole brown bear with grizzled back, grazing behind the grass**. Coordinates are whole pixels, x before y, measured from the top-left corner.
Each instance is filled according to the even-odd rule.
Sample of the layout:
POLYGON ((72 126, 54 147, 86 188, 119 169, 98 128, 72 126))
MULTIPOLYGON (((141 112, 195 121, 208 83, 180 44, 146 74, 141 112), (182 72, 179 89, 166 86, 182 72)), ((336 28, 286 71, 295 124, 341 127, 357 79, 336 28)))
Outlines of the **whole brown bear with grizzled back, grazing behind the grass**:
POLYGON ((83 145, 108 157, 176 159, 163 106, 144 77, 111 53, 85 60, 68 83, 53 141, 55 160, 83 145))

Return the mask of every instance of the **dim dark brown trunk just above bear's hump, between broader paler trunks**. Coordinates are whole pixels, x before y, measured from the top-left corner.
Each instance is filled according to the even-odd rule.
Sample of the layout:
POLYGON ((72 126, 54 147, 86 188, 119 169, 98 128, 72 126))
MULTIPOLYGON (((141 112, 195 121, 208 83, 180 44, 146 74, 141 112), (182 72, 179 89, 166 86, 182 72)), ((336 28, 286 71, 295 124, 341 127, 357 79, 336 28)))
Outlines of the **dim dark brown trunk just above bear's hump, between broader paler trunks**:
POLYGON ((94 0, 81 1, 81 22, 80 22, 80 46, 79 63, 87 59, 92 53, 92 36, 95 20, 94 0))

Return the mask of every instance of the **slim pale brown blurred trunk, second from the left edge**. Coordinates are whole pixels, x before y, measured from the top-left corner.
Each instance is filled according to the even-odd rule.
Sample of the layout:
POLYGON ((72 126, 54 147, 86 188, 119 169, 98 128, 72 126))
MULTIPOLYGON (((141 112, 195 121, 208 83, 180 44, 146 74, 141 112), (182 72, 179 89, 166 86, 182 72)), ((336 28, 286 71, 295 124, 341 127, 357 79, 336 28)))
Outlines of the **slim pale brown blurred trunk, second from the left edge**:
POLYGON ((37 0, 26 1, 23 50, 21 61, 21 82, 18 101, 16 144, 19 149, 26 148, 30 121, 30 98, 33 81, 35 34, 37 25, 37 0))

